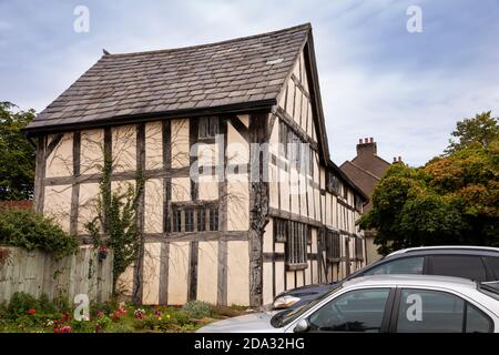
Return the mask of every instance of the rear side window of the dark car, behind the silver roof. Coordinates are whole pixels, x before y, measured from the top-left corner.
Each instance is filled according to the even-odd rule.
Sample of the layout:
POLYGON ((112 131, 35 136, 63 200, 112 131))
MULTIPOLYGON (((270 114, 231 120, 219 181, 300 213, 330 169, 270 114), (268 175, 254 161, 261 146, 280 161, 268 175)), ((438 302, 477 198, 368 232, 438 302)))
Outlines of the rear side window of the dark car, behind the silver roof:
POLYGON ((431 256, 432 275, 465 277, 473 281, 487 281, 483 262, 479 256, 435 255, 431 256))

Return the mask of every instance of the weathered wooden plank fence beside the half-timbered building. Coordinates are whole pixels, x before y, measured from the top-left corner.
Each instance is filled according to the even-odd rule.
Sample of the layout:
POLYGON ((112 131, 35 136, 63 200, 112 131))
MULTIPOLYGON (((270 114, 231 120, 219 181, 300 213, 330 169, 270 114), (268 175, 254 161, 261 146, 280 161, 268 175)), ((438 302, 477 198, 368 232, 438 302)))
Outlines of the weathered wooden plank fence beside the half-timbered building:
POLYGON ((45 294, 50 300, 65 297, 70 304, 78 294, 105 302, 112 293, 112 265, 111 250, 100 260, 89 245, 59 261, 40 251, 0 246, 0 302, 9 302, 16 292, 35 297, 45 294))

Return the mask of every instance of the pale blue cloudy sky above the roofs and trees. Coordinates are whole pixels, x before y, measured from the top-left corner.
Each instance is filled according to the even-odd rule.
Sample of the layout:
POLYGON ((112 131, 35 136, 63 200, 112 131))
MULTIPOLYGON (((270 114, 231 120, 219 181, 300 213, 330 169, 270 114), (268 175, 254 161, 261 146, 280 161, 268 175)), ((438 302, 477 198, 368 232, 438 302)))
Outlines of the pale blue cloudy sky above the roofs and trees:
POLYGON ((499 1, 0 0, 0 101, 44 109, 102 55, 313 27, 333 161, 374 138, 378 155, 425 164, 456 122, 499 112, 499 1), (74 31, 78 6, 89 31, 74 31), (411 6, 420 9, 419 32, 411 6))

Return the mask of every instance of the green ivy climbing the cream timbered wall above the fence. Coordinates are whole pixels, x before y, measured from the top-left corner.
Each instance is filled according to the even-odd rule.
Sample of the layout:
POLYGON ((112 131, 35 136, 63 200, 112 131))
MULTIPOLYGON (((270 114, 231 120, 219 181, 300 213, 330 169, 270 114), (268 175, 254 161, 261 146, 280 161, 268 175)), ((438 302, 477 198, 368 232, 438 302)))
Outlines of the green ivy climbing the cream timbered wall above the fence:
POLYGON ((116 293, 119 276, 136 261, 141 247, 141 233, 138 227, 138 205, 144 190, 142 171, 124 191, 111 189, 112 158, 104 154, 102 178, 96 200, 96 215, 85 224, 95 246, 113 250, 113 293, 116 293))

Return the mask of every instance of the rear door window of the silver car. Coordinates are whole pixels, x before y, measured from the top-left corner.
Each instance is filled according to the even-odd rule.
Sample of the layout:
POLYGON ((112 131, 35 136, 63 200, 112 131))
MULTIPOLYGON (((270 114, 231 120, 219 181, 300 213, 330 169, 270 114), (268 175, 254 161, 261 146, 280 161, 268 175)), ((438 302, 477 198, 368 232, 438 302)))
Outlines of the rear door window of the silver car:
POLYGON ((462 333, 465 301, 438 291, 403 290, 397 333, 462 333))

